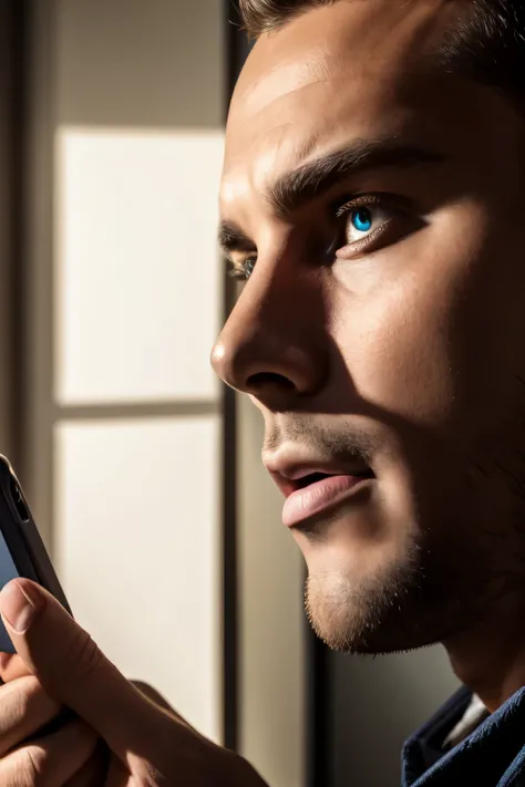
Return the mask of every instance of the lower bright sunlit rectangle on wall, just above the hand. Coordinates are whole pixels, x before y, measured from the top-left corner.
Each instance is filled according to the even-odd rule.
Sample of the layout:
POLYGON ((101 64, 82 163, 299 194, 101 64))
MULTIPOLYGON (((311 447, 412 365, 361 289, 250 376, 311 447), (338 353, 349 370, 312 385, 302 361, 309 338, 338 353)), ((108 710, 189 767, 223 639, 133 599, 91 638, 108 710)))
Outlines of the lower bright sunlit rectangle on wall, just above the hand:
POLYGON ((54 560, 127 677, 220 741, 220 420, 55 427, 54 560))

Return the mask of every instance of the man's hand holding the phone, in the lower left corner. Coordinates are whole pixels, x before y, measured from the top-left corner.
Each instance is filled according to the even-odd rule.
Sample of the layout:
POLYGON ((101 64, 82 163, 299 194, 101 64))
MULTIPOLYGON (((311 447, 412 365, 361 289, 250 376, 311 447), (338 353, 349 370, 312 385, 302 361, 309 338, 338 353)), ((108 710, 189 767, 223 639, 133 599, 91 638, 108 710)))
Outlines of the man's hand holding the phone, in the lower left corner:
MULTIPOLYGON (((87 774, 85 785, 265 787, 246 760, 146 698, 39 586, 25 579, 10 582, 0 594, 0 612, 19 655, 45 693, 79 716, 62 754, 75 750, 80 757, 79 725, 82 733, 93 731, 93 741, 99 736, 107 746, 107 777, 90 781, 87 774)), ((2 787, 70 787, 61 758, 45 746, 38 767, 28 768, 28 759, 25 755, 11 781, 0 778, 2 787)), ((82 769, 79 776, 83 777, 82 769)), ((76 781, 71 785, 76 787, 76 781)))

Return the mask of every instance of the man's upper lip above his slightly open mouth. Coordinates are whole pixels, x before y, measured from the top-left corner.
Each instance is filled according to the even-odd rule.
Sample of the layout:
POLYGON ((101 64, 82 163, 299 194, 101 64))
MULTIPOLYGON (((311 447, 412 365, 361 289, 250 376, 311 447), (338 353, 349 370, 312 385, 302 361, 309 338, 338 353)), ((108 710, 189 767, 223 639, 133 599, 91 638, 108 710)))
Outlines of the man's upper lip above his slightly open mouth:
POLYGON ((275 483, 286 497, 300 489, 300 480, 313 473, 322 473, 327 476, 366 476, 373 475, 369 465, 362 459, 354 457, 347 462, 333 462, 316 459, 313 457, 300 457, 291 453, 285 455, 281 452, 274 456, 264 457, 266 469, 274 478, 275 483))

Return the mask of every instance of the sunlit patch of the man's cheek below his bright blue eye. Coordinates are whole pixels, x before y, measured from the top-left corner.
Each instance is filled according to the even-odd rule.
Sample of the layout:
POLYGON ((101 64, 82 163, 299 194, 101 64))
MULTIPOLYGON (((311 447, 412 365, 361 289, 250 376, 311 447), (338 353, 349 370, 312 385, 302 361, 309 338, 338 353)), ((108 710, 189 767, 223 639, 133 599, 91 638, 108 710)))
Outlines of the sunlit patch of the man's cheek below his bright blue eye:
POLYGON ((454 400, 451 315, 435 296, 400 280, 349 304, 334 336, 360 398, 414 423, 445 418, 454 400))

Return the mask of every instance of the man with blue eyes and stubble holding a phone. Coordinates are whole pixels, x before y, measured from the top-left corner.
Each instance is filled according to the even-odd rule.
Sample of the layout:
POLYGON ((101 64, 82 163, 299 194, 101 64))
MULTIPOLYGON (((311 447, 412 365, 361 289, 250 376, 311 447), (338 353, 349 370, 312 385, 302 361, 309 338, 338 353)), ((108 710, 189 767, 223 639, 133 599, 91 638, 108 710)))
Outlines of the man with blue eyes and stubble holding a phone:
MULTIPOLYGON (((469 687, 408 742, 403 784, 524 784, 524 6, 243 10, 258 42, 220 240, 245 284, 215 367, 264 415, 317 633, 364 654, 443 642, 469 687)), ((0 609, 21 659, 2 786, 262 785, 35 586, 0 609), (76 715, 39 738, 61 705, 76 715)))

